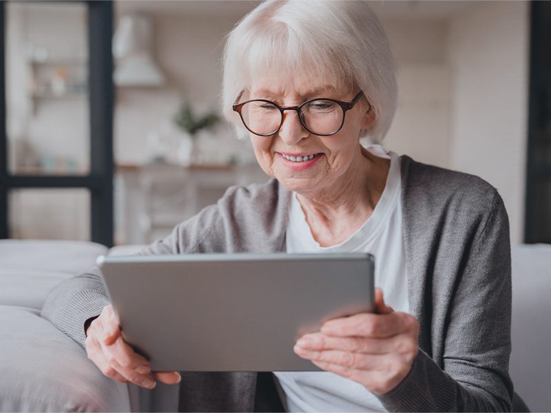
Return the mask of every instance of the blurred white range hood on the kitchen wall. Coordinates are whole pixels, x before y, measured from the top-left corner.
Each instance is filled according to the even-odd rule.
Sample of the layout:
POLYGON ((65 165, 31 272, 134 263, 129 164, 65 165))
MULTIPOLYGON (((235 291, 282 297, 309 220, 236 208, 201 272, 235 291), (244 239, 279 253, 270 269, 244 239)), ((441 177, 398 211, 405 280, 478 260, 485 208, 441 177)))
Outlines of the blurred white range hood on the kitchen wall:
POLYGON ((165 76, 153 59, 153 25, 143 14, 121 17, 113 37, 117 86, 161 86, 165 76))

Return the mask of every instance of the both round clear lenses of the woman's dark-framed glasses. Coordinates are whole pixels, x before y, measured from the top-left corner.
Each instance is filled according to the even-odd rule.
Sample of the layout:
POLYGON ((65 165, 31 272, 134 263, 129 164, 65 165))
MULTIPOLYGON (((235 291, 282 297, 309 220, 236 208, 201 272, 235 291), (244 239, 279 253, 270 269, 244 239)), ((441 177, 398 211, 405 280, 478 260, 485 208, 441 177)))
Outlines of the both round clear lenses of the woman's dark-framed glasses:
MULTIPOLYGON (((243 122, 255 134, 274 134, 281 125, 282 113, 272 103, 252 100, 241 109, 243 122)), ((300 108, 302 123, 313 134, 333 134, 340 129, 344 112, 342 107, 331 100, 312 100, 300 108)))

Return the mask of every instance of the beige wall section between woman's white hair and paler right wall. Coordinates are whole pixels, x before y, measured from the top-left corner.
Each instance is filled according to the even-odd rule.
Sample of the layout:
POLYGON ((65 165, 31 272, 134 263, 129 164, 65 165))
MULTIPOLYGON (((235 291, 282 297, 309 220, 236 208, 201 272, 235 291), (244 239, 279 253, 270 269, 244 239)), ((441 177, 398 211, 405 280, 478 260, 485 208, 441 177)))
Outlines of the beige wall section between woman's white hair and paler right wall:
POLYGON ((441 19, 382 23, 398 66, 398 107, 384 146, 420 162, 448 167, 448 25, 441 19))

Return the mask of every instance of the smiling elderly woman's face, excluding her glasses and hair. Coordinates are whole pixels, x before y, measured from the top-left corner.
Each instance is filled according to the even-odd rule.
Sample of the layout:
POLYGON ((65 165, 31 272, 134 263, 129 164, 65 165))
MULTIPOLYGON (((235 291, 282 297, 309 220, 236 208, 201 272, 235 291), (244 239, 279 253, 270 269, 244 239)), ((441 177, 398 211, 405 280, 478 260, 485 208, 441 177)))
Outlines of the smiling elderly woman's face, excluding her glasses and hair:
MULTIPOLYGON (((344 91, 327 85, 331 82, 317 76, 282 78, 277 73, 256 78, 247 100, 266 99, 280 106, 298 106, 312 98, 350 101, 359 90, 344 91)), ((244 101, 241 99, 241 101, 244 101)), ((316 193, 340 184, 346 172, 361 162, 360 131, 373 121, 373 111, 358 102, 346 112, 342 129, 332 136, 311 134, 302 127, 295 111, 285 111, 283 124, 273 136, 250 134, 260 167, 284 187, 298 193, 316 193), (295 162, 285 157, 313 158, 295 162)))

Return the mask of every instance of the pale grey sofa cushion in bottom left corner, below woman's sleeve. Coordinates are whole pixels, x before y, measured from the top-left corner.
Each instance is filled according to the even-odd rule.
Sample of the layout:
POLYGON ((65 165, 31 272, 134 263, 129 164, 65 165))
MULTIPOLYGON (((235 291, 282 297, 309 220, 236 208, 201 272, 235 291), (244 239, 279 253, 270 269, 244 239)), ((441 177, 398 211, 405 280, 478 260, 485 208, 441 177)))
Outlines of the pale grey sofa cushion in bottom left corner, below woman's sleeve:
POLYGON ((128 412, 127 385, 39 313, 0 306, 0 412, 128 412))

